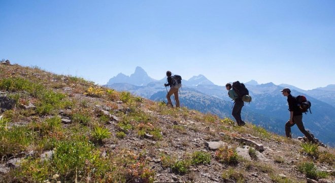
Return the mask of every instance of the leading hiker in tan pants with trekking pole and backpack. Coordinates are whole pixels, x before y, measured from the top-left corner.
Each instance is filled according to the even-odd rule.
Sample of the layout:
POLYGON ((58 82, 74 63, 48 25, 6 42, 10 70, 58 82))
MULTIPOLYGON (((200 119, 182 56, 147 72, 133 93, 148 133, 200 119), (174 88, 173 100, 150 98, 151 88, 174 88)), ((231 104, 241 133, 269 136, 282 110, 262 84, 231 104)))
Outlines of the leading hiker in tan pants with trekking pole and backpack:
POLYGON ((166 94, 166 99, 168 99, 168 103, 166 104, 167 106, 171 106, 173 107, 172 101, 171 101, 171 96, 174 95, 174 100, 175 100, 175 104, 176 107, 179 107, 179 96, 178 96, 178 92, 179 92, 179 88, 181 87, 181 76, 179 75, 174 75, 172 76, 171 71, 166 71, 166 76, 168 76, 168 84, 164 83, 166 92, 168 94, 166 94), (170 86, 170 90, 168 92, 168 88, 166 88, 166 86, 170 86))

